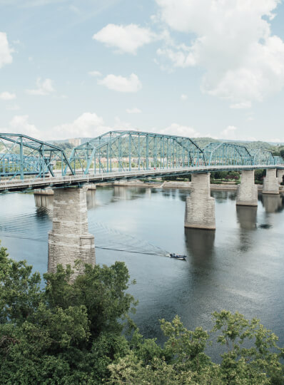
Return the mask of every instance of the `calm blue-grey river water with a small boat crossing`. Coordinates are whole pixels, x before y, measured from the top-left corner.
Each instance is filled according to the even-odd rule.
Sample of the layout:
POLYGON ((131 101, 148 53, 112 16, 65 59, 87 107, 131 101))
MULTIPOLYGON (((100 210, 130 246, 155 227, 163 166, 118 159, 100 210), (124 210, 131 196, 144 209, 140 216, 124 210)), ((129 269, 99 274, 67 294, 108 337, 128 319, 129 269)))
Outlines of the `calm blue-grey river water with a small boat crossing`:
MULTIPOLYGON (((126 262, 134 319, 145 337, 162 339, 158 319, 212 327, 228 309, 258 317, 284 344, 284 197, 259 195, 258 208, 236 207, 234 191, 212 191, 216 230, 184 229, 186 189, 101 187, 87 193, 96 262, 126 262), (115 249, 115 250, 108 250, 115 249), (118 251, 123 250, 123 251, 118 251), (188 255, 186 262, 166 252, 188 255)), ((47 269, 52 197, 0 195, 0 239, 15 260, 47 269), (35 205, 44 203, 46 209, 35 205)))

